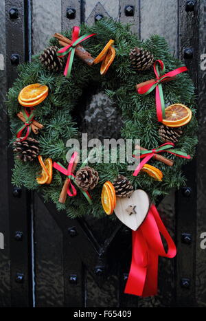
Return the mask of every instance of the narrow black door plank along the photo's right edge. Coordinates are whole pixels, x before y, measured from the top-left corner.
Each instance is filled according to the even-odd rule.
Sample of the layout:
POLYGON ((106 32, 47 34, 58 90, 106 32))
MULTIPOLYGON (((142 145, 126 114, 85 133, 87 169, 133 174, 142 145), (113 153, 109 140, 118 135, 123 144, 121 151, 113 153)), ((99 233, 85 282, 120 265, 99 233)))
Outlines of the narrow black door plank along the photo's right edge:
POLYGON ((196 235, 196 300, 201 307, 206 306, 206 249, 205 249, 205 233, 206 232, 206 173, 203 168, 206 164, 206 0, 200 3, 199 16, 199 52, 198 58, 201 58, 201 69, 198 78, 198 164, 197 164, 197 235, 196 235), (204 56, 203 56, 204 55, 204 56), (203 239, 204 237, 204 239, 203 239), (203 244, 201 245, 201 242, 203 244))

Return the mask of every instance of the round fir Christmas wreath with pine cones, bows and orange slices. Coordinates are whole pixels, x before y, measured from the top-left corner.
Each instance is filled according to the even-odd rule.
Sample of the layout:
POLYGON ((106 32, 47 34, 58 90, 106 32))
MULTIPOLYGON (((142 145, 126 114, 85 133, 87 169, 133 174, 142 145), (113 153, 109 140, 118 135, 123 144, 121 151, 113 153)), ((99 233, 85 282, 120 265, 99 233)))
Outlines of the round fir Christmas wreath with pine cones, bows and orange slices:
MULTIPOLYGON (((12 184, 43 193, 45 201, 52 200, 72 218, 111 214, 115 195, 130 197, 139 188, 155 202, 183 186, 181 166, 194 156, 197 144, 194 86, 183 71, 164 38, 141 41, 129 25, 112 20, 56 34, 43 53, 19 66, 19 78, 8 92, 17 155, 12 184), (147 150, 141 149, 144 163, 135 173, 118 159, 77 163, 81 151, 73 153, 67 168, 67 140, 80 138, 73 115, 93 84, 121 113, 120 137, 139 138, 147 150), (104 210, 101 195, 108 198, 104 210)), ((128 207, 129 215, 134 211, 128 207)))

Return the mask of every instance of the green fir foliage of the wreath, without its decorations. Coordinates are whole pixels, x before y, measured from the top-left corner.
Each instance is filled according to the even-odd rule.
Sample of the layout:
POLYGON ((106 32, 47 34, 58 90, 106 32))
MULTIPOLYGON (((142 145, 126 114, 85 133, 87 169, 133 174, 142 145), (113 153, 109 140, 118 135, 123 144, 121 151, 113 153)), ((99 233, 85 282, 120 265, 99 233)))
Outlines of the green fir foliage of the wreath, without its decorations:
MULTIPOLYGON (((152 91, 148 96, 141 96, 135 90, 137 83, 154 78, 154 71, 152 68, 139 73, 133 71, 130 67, 130 48, 142 47, 154 55, 154 60, 163 60, 165 72, 181 66, 181 61, 172 57, 168 44, 161 36, 154 35, 146 41, 141 41, 137 36, 131 34, 129 25, 122 25, 110 19, 102 19, 93 26, 82 25, 80 34, 86 32, 96 33, 96 36, 89 38, 82 44, 93 57, 98 56, 109 39, 112 38, 115 41, 115 60, 105 76, 100 75, 100 65, 89 67, 78 57, 75 57, 71 77, 67 79, 63 76, 62 71, 57 73, 44 69, 39 60, 39 55, 36 55, 32 58, 31 63, 19 66, 19 78, 8 92, 8 113, 14 136, 12 141, 14 141, 16 130, 22 125, 21 120, 16 117, 16 113, 21 110, 17 100, 19 92, 23 87, 36 82, 49 87, 49 96, 34 111, 36 120, 44 124, 43 130, 39 132, 36 138, 39 141, 40 154, 43 159, 51 157, 54 162, 60 162, 64 166, 67 166, 66 153, 68 148, 66 142, 69 138, 78 137, 78 126, 71 118, 71 111, 76 108, 82 91, 89 87, 91 82, 98 83, 100 90, 104 90, 108 97, 115 102, 117 108, 122 111, 123 138, 139 138, 141 146, 145 148, 155 148, 162 144, 158 133, 159 123, 157 122, 155 108, 155 91, 152 91)), ((71 37, 71 30, 65 32, 64 36, 71 37)), ((49 41, 49 45, 60 47, 55 38, 49 41)), ((193 157, 197 144, 197 122, 194 116, 196 113, 194 86, 188 74, 180 74, 176 77, 176 80, 163 84, 163 95, 167 105, 181 102, 181 104, 185 104, 192 109, 192 121, 185 126, 176 148, 193 157)), ((32 134, 31 137, 34 137, 34 135, 32 134)), ((156 166, 163 172, 162 182, 155 181, 146 173, 139 173, 137 177, 133 177, 133 171, 127 170, 127 164, 88 164, 98 171, 100 177, 98 186, 91 191, 92 206, 89 206, 87 199, 79 190, 76 197, 67 197, 65 204, 59 203, 58 197, 65 176, 55 169, 52 184, 39 186, 36 182, 36 176, 41 170, 38 159, 26 164, 19 159, 15 159, 12 184, 38 190, 43 193, 45 201, 54 201, 57 209, 66 210, 69 217, 80 217, 84 214, 102 217, 105 215, 101 204, 102 184, 105 181, 113 181, 117 175, 126 176, 133 184, 134 189, 141 188, 148 192, 152 201, 157 201, 159 197, 167 195, 171 188, 179 188, 185 184, 181 166, 188 160, 168 153, 162 155, 174 159, 174 166, 172 167, 150 160, 151 165, 156 166)))

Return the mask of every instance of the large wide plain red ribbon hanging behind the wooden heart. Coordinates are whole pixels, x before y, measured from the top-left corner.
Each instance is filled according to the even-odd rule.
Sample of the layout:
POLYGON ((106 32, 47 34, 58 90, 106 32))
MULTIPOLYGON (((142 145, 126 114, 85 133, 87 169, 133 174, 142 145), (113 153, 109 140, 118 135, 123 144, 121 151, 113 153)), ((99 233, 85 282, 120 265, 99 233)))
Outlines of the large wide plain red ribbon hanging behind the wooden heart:
POLYGON ((133 256, 124 293, 144 297, 157 294, 159 256, 174 258, 176 246, 152 204, 144 222, 137 231, 133 231, 133 256), (167 253, 160 233, 167 241, 167 253))

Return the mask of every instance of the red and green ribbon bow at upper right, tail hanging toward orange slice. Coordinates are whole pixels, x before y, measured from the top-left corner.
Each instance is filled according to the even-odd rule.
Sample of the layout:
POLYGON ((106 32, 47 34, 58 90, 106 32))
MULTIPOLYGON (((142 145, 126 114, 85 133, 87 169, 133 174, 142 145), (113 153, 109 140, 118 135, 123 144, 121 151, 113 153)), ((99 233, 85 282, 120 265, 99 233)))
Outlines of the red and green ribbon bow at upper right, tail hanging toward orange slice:
POLYGON ((187 71, 187 67, 179 67, 177 69, 174 69, 167 74, 165 74, 165 66, 163 64, 162 60, 156 60, 154 63, 154 71, 156 80, 155 82, 151 82, 148 85, 144 85, 140 87, 137 92, 140 95, 148 95, 152 90, 156 88, 156 109, 157 109, 157 120, 159 122, 162 122, 163 118, 165 118, 165 102, 163 97, 163 89, 161 82, 164 80, 171 80, 170 78, 173 78, 174 76, 181 74, 183 71, 187 71), (159 69, 159 65, 160 69, 159 69))

